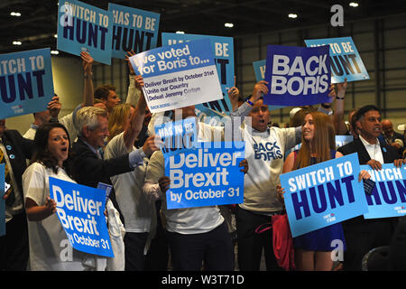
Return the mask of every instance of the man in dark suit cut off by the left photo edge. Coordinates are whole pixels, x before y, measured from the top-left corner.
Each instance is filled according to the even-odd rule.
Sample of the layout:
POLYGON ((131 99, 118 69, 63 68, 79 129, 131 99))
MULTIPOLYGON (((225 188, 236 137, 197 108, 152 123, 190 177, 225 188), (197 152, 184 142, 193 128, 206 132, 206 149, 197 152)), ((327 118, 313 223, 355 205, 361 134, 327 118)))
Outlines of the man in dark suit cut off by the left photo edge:
POLYGON ((0 271, 25 271, 28 262, 28 229, 23 208, 22 175, 32 156, 32 140, 5 128, 0 119, 0 163, 7 167, 5 182, 5 236, 0 237, 0 271), (8 176, 7 176, 8 174, 8 176))

